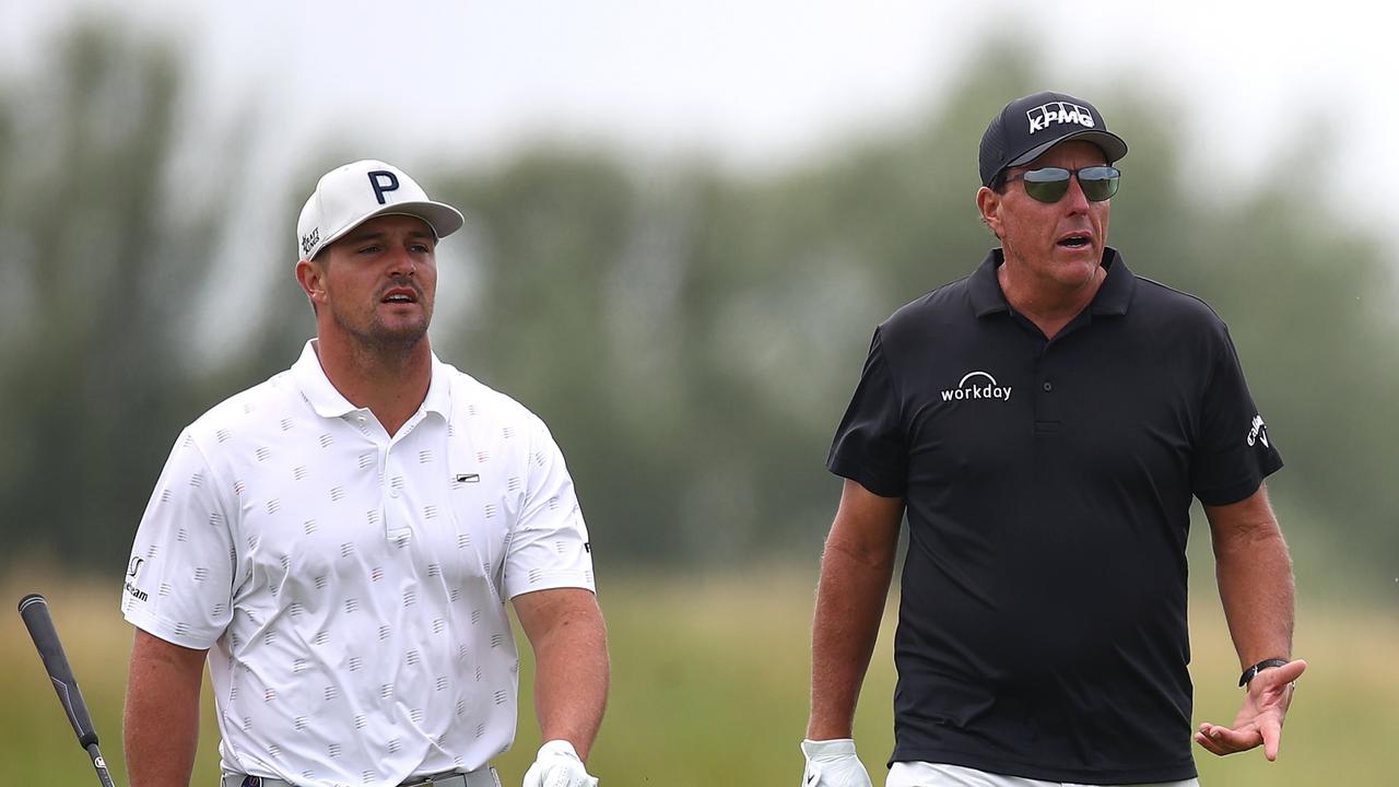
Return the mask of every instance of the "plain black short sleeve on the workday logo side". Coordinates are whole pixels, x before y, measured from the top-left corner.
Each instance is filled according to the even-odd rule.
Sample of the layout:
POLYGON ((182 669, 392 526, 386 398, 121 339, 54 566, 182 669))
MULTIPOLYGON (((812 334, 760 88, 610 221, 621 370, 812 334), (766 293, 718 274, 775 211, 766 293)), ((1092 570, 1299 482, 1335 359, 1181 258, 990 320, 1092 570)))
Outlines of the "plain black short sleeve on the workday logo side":
POLYGON ((902 497, 908 487, 908 431, 901 412, 883 339, 876 330, 825 466, 874 494, 902 497))

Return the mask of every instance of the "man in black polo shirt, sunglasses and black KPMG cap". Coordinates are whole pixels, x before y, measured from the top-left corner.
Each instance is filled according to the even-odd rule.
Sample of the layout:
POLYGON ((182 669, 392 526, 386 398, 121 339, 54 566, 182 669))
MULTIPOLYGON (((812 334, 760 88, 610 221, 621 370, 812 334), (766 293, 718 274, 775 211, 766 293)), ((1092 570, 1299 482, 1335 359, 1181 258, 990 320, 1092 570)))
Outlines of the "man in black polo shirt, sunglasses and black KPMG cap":
POLYGON ((1126 150, 1079 98, 1006 105, 977 193, 1000 248, 874 332, 828 459, 804 787, 870 784, 851 731, 905 510, 890 787, 1196 784, 1192 497, 1247 685, 1195 739, 1277 756, 1307 667, 1281 458, 1220 318, 1107 246, 1126 150))

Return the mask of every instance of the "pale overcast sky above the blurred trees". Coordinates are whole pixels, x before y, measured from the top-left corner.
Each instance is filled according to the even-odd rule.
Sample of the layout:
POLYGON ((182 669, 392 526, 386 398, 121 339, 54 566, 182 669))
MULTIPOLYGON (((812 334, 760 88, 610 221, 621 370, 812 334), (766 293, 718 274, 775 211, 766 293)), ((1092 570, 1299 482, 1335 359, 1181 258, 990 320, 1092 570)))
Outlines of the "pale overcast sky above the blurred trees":
MULTIPOLYGON (((1045 85, 1091 98, 1126 76, 1186 116, 1198 161, 1245 179, 1301 116, 1332 118, 1340 148, 1319 197, 1399 248, 1399 46, 1365 0, 1081 3, 993 0, 0 0, 0 70, 42 59, 46 32, 99 10, 162 29, 194 57, 197 123, 248 104, 277 125, 285 164, 336 129, 450 161, 522 137, 625 144, 644 157, 701 150, 781 167, 863 127, 897 123, 960 77, 999 29, 1044 45, 1045 85), (1220 144, 1219 141, 1224 144, 1220 144), (1356 197, 1364 190, 1364 197, 1356 197)), ((1013 98, 1013 97, 1007 97, 1013 98)), ((1111 123, 1111 108, 1102 108, 1111 123)), ((977 119, 978 127, 983 123, 977 119)), ((970 153, 970 155, 972 155, 970 153)))

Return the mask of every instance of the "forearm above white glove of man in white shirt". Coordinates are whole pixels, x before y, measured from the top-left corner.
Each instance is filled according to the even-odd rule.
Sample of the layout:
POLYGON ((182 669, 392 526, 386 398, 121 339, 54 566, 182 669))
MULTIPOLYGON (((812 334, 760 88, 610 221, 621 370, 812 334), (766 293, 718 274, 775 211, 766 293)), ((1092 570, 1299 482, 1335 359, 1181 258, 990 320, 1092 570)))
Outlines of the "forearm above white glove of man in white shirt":
POLYGON ((589 604, 560 613, 530 640, 540 732, 544 741, 568 741, 583 760, 602 725, 610 679, 606 625, 588 595, 589 604))

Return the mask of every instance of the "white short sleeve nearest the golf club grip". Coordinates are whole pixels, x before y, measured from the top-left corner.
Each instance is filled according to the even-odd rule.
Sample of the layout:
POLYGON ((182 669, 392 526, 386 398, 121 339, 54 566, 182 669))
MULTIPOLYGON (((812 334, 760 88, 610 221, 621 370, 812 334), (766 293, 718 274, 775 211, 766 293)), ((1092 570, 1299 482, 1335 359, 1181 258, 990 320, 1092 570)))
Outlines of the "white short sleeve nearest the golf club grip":
POLYGON ((122 594, 127 622, 182 647, 214 644, 232 619, 228 514, 204 454, 185 430, 136 531, 122 594))

